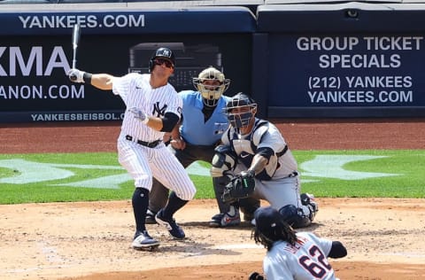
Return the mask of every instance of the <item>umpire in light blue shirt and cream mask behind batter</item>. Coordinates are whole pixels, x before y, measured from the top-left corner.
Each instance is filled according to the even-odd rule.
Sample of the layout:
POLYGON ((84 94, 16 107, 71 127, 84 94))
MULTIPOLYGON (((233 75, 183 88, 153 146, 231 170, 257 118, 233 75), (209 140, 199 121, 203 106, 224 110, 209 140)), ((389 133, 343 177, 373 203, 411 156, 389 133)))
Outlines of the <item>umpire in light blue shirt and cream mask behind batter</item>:
MULTIPOLYGON (((228 128, 227 116, 223 113, 229 97, 223 96, 228 89, 230 80, 213 66, 205 68, 193 85, 197 90, 183 90, 182 121, 180 128, 174 128, 168 149, 188 167, 197 160, 212 162, 214 148, 220 143, 223 132, 228 128)), ((254 211, 259 207, 259 200, 242 199, 238 204, 224 204, 220 194, 228 183, 228 177, 213 178, 220 214, 213 216, 209 222, 212 227, 227 227, 241 222, 239 205, 241 205, 245 220, 251 221, 254 211)), ((150 193, 149 209, 146 223, 155 223, 154 216, 166 205, 168 190, 158 180, 153 180, 150 193)))

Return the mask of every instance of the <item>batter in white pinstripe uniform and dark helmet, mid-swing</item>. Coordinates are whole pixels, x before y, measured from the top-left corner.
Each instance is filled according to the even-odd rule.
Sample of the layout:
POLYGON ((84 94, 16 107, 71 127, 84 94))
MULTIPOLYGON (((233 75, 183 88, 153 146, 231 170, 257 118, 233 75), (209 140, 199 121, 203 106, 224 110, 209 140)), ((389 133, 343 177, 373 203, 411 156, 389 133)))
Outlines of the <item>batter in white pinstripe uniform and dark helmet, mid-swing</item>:
POLYGON ((135 249, 159 245, 145 227, 152 176, 172 190, 164 208, 155 219, 166 226, 178 239, 185 237, 182 228, 174 221, 174 213, 195 196, 195 186, 182 164, 166 149, 162 142, 166 132, 172 131, 182 112, 182 99, 168 83, 174 73, 174 53, 159 48, 149 61, 150 74, 89 74, 71 69, 72 82, 85 82, 98 89, 111 90, 119 95, 127 109, 118 137, 118 159, 135 181, 132 205, 135 215, 135 249))

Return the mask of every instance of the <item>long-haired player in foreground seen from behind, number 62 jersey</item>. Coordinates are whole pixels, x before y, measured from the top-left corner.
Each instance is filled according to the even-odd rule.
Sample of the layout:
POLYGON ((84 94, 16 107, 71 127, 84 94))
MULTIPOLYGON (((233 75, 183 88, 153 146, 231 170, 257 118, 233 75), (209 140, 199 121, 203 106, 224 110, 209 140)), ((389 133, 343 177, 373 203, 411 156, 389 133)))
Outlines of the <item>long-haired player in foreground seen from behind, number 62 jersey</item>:
MULTIPOLYGON (((274 280, 336 280, 327 258, 343 258, 347 250, 339 241, 297 233, 273 207, 260 207, 255 214, 254 240, 267 248, 263 270, 274 280)), ((263 279, 251 274, 250 280, 263 279)))

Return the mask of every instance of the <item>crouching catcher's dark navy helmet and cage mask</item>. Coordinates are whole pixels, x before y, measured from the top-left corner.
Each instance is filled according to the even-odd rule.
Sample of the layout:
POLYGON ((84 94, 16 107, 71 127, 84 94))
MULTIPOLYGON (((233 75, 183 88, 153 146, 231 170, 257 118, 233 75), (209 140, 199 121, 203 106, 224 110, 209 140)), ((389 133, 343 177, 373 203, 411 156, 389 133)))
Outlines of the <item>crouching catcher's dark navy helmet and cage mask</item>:
POLYGON ((228 115, 228 121, 234 128, 243 128, 250 125, 257 113, 257 104, 247 95, 239 92, 232 97, 224 109, 228 115))

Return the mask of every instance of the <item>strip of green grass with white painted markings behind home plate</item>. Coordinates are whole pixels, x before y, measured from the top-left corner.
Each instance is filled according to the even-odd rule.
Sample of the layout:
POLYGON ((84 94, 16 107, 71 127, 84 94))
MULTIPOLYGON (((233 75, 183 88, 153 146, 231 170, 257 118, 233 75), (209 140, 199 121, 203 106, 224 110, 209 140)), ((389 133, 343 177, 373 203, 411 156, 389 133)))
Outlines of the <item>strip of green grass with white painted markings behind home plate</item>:
MULTIPOLYGON (((368 151, 295 151, 301 172, 302 192, 316 197, 352 198, 425 198, 425 150, 368 150, 368 151), (325 162, 305 163, 316 157, 327 157, 325 162), (332 156, 383 157, 367 160, 348 160, 338 168, 359 174, 383 174, 390 176, 336 178, 338 168, 333 166, 332 156)), ((208 163, 201 163, 205 168, 208 163)), ((0 204, 29 202, 89 201, 129 199, 134 191, 131 178, 120 180, 116 188, 104 189, 112 176, 127 175, 120 167, 114 152, 97 153, 43 153, 0 155, 0 204), (25 165, 22 165, 22 163, 25 165), (64 178, 52 178, 66 172, 64 178), (21 182, 22 175, 30 180, 21 182), (107 177, 108 176, 108 177, 107 177), (111 176, 111 177, 110 177, 111 176), (31 178, 37 178, 31 180, 31 178), (104 177, 104 181, 99 180, 104 177), (19 179, 20 178, 20 179, 19 179), (37 181, 38 180, 38 181, 37 181), (86 187, 60 184, 90 182, 86 187), (100 183, 99 183, 100 182, 100 183)), ((196 198, 214 198, 213 183, 209 176, 190 175, 197 186, 196 198)))

